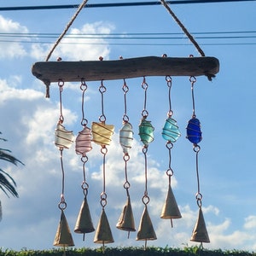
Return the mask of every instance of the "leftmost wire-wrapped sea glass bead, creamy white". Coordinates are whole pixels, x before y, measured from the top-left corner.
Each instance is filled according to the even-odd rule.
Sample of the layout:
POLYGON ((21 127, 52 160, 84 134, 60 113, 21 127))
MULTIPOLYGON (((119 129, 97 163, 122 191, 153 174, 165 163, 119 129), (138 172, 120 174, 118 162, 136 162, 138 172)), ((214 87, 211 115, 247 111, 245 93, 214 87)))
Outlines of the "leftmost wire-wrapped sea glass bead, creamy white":
POLYGON ((55 146, 59 148, 70 148, 74 142, 73 131, 67 131, 63 125, 58 123, 55 129, 55 146))

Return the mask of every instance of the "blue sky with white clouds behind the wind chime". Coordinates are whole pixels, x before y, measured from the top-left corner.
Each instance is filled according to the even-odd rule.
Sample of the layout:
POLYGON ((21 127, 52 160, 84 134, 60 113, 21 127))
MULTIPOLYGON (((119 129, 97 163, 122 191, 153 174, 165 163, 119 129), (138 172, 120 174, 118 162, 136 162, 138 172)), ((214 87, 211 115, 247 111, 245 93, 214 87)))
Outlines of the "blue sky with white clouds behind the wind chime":
MULTIPOLYGON (((121 2, 121 1, 119 1, 121 2)), ((124 1, 125 2, 125 1, 124 1)), ((44 1, 38 5, 71 4, 75 1, 44 1)), ((102 3, 102 1, 89 1, 102 3)), ((9 0, 8 6, 17 6, 9 0)), ((34 5, 23 1, 24 6, 34 5)), ((1 6, 7 6, 1 4, 1 6)), ((172 10, 189 32, 253 32, 255 31, 256 4, 201 3, 173 5, 172 10)), ((0 32, 4 33, 55 33, 60 34, 73 16, 75 9, 2 11, 0 32)), ((164 7, 125 7, 83 9, 73 23, 72 33, 121 33, 131 32, 181 32, 164 7)), ((226 35, 226 34, 225 34, 226 35)), ((250 34, 251 35, 251 34, 250 34)), ((254 34, 253 34, 254 35, 254 34)), ((3 137, 9 148, 25 166, 4 165, 17 182, 20 198, 8 198, 3 193, 3 220, 0 246, 20 250, 22 247, 45 249, 53 247, 60 218, 58 202, 61 195, 61 166, 59 152, 54 145, 55 125, 59 118, 58 86, 51 84, 50 98, 44 98, 44 84, 32 76, 31 67, 44 61, 56 38, 3 38, 0 41, 0 119, 3 137), (8 40, 7 40, 8 39, 8 40), (6 42, 11 41, 11 42, 6 42), (50 43, 45 44, 44 42, 50 43)), ((256 250, 256 200, 255 200, 255 151, 256 122, 255 88, 255 38, 206 39, 197 42, 208 56, 220 62, 216 79, 209 82, 198 77, 195 84, 195 111, 201 120, 203 140, 200 143, 199 172, 203 212, 211 242, 207 248, 256 250), (231 44, 232 43, 232 44, 231 44), (238 44, 234 44, 238 43, 238 44), (246 43, 246 44, 244 44, 246 43), (252 44, 253 43, 253 44, 252 44)), ((146 55, 186 57, 199 56, 188 38, 166 40, 121 40, 109 38, 64 38, 55 49, 50 61, 61 56, 63 61, 115 60, 146 55), (67 44, 68 43, 68 44, 67 44), (72 44, 70 44, 72 43, 72 44), (79 44, 78 44, 79 43, 79 44), (119 43, 119 44, 116 44, 119 43), (129 43, 130 45, 124 45, 129 43), (133 45, 131 45, 133 43, 133 45), (138 45, 143 44, 143 45, 138 45), (166 45, 169 44, 169 45, 166 45)), ((143 204, 144 189, 142 143, 139 141, 138 124, 143 109, 143 79, 127 79, 127 113, 134 128, 134 142, 128 175, 131 181, 131 203, 138 227, 143 204)), ((114 243, 108 246, 143 246, 136 241, 137 232, 129 239, 115 224, 125 204, 125 178, 122 150, 119 146, 119 129, 124 113, 122 80, 106 81, 105 114, 107 123, 115 126, 113 142, 108 147, 106 186, 108 205, 106 213, 113 232, 114 243)), ((148 245, 183 247, 195 245, 189 241, 198 207, 195 201, 195 153, 186 139, 186 125, 192 114, 189 78, 172 78, 173 118, 182 133, 172 149, 172 189, 183 218, 169 221, 160 218, 165 201, 168 179, 168 153, 161 129, 168 111, 165 78, 148 77, 148 119, 154 125, 154 142, 148 148, 148 212, 158 237, 148 245)), ((89 124, 101 114, 99 81, 88 82, 84 102, 85 117, 89 124)), ((82 130, 81 91, 79 83, 66 83, 63 90, 65 126, 78 134, 82 130)), ((90 191, 90 213, 96 227, 101 213, 102 155, 93 144, 86 165, 90 191)), ((72 148, 64 150, 66 173, 65 197, 67 221, 73 227, 83 201, 80 183, 83 180, 82 163, 72 148)), ((99 247, 93 243, 94 234, 82 236, 73 233, 76 247, 99 247)))

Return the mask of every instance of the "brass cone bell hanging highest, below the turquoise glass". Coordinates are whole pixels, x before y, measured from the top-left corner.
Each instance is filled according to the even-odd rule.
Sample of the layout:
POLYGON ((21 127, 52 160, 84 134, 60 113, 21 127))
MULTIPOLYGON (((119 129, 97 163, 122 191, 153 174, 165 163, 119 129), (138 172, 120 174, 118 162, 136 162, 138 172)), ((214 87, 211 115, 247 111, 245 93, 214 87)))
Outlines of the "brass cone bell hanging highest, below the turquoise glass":
POLYGON ((172 192, 172 187, 169 185, 169 189, 166 196, 165 204, 162 208, 160 218, 182 218, 179 209, 177 207, 177 202, 172 192))

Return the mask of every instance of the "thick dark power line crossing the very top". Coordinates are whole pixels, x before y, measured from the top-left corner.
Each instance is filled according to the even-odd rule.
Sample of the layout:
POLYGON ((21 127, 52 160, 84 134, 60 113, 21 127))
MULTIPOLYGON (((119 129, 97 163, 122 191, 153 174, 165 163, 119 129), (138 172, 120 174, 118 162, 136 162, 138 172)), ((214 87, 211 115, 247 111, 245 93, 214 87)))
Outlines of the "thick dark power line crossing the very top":
MULTIPOLYGON (((231 2, 253 2, 256 0, 177 0, 166 1, 168 4, 190 4, 190 3, 231 3, 231 2)), ((160 5, 158 2, 133 2, 133 3, 88 3, 84 8, 111 8, 111 7, 128 7, 128 6, 149 6, 160 5)), ((79 4, 64 4, 64 5, 38 5, 38 6, 14 6, 1 7, 0 11, 17 11, 17 10, 39 10, 39 9, 77 9, 79 4)))

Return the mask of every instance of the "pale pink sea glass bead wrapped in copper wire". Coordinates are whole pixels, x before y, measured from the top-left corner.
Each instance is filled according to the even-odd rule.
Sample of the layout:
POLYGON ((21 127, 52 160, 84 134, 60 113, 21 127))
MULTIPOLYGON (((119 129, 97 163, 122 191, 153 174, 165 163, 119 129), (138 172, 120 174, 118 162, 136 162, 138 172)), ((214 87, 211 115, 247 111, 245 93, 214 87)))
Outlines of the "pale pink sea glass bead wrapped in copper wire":
POLYGON ((79 135, 76 138, 76 153, 86 154, 91 150, 91 131, 90 128, 84 127, 83 131, 79 131, 79 135))

